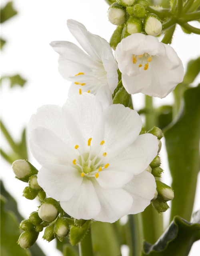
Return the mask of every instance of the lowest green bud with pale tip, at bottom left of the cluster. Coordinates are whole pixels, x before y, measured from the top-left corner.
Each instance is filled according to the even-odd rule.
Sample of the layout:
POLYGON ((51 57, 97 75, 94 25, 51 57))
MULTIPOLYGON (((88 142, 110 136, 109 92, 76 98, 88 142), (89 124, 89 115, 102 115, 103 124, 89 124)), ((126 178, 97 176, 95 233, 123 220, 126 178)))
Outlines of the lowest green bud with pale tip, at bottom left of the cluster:
POLYGON ((39 233, 35 230, 24 231, 20 235, 17 243, 24 249, 30 248, 30 246, 32 246, 38 239, 38 235, 39 233))

